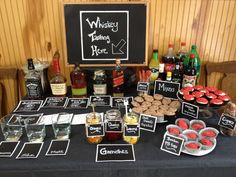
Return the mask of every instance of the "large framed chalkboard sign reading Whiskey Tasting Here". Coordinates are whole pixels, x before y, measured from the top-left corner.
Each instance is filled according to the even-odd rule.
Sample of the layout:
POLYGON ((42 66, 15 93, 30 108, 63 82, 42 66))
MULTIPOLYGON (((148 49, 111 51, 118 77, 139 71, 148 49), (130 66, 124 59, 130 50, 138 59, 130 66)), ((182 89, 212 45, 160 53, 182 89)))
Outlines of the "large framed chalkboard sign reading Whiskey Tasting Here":
POLYGON ((147 64, 146 3, 64 4, 69 64, 104 66, 116 58, 127 66, 147 64))

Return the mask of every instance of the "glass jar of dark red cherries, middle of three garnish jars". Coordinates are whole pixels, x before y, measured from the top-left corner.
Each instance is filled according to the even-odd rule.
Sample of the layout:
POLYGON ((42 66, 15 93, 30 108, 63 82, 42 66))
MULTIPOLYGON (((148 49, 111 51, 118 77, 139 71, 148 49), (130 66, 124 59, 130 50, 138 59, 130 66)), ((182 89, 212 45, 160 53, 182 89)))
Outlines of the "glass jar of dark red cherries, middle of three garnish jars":
POLYGON ((122 118, 119 110, 111 109, 106 111, 105 124, 106 127, 112 125, 109 127, 109 131, 106 131, 106 139, 108 141, 115 141, 122 138, 122 118))

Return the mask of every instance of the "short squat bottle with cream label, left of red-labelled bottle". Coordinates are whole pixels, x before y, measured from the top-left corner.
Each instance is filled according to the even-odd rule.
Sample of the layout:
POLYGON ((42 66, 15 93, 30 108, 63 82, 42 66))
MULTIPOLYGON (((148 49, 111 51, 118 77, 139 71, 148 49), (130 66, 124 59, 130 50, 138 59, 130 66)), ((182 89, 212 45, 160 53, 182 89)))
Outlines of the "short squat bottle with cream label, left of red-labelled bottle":
POLYGON ((104 70, 97 70, 94 72, 93 90, 94 95, 107 94, 107 77, 104 70))

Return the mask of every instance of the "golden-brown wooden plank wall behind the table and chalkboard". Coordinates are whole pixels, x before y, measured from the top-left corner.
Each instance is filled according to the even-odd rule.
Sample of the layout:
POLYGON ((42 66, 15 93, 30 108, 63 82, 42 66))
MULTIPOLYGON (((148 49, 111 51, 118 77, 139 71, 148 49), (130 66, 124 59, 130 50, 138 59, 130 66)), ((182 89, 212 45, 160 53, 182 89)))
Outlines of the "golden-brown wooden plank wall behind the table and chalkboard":
MULTIPOLYGON (((0 66, 21 68, 29 57, 51 61, 55 50, 62 55, 64 2, 87 2, 89 0, 1 0, 0 1, 0 66)), ((90 0, 101 2, 101 0, 90 0)), ((103 0, 104 1, 104 0, 103 0)), ((105 0, 117 2, 116 0, 105 0)), ((147 0, 150 2, 149 58, 152 49, 158 48, 160 56, 169 42, 179 48, 181 41, 198 46, 202 63, 236 60, 236 1, 235 0, 147 0)), ((121 0, 121 2, 134 2, 121 0)), ((69 83, 65 58, 62 72, 69 83)), ((218 86, 222 75, 214 74, 210 86, 218 86)), ((24 87, 21 78, 21 90, 24 87)), ((6 112, 15 106, 14 82, 1 81, 6 112)), ((201 77, 203 83, 203 77, 201 77)), ((24 94, 23 91, 21 91, 24 94)))

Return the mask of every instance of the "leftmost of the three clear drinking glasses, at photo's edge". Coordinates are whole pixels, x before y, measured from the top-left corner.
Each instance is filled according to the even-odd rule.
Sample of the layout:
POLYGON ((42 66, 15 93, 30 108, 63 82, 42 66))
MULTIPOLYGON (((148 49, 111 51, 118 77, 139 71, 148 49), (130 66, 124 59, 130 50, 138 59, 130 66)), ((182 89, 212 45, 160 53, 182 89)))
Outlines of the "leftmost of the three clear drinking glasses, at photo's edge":
POLYGON ((23 134, 22 125, 18 118, 9 122, 9 119, 3 117, 0 124, 5 141, 18 141, 23 134))

